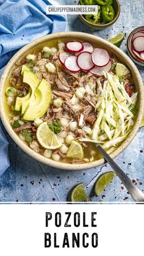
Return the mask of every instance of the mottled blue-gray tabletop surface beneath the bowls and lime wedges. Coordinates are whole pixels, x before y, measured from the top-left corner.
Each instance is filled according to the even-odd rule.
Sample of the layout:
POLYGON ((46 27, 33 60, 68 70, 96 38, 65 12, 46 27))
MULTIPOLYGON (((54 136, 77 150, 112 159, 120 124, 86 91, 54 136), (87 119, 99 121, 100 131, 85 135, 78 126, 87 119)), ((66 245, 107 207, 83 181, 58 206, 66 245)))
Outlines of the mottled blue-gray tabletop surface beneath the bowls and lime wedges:
MULTIPOLYGON (((60 4, 76 4, 77 1, 59 1, 60 4)), ((135 27, 143 25, 144 22, 144 1, 143 0, 120 0, 121 15, 112 27, 104 31, 94 31, 85 26, 78 16, 68 16, 67 31, 82 31, 98 35, 104 39, 109 39, 119 32, 129 32, 135 27)), ((126 38, 121 45, 121 49, 126 52, 126 38)), ((144 81, 144 70, 138 67, 144 81)), ((30 156, 26 155, 9 137, 4 127, 4 133, 9 140, 10 167, 0 177, 0 201, 15 202, 51 202, 66 201, 68 192, 77 183, 83 182, 90 196, 93 184, 99 174, 111 170, 109 165, 100 166, 96 169, 66 171, 54 169, 44 164, 38 163, 30 156)), ((126 150, 115 159, 129 177, 137 182, 139 188, 144 190, 144 128, 140 129, 126 150), (141 184, 143 183, 143 184, 141 184)), ((121 188, 120 180, 116 177, 113 183, 104 192, 103 201, 121 201, 126 197, 126 202, 131 201, 131 197, 126 189, 121 188)), ((102 197, 94 197, 94 201, 101 200, 102 197)))

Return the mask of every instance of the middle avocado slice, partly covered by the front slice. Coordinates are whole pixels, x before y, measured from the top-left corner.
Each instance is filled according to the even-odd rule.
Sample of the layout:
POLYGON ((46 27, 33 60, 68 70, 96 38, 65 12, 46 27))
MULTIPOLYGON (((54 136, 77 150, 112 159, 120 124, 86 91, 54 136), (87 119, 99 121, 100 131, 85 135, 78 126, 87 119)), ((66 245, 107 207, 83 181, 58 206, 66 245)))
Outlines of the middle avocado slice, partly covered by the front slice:
POLYGON ((21 114, 22 115, 26 111, 26 108, 29 105, 29 103, 35 100, 34 93, 35 93, 35 90, 37 89, 38 85, 40 84, 40 79, 38 79, 38 77, 31 71, 24 70, 23 82, 26 82, 31 87, 31 97, 29 97, 26 101, 24 101, 22 103, 22 106, 21 106, 21 114))

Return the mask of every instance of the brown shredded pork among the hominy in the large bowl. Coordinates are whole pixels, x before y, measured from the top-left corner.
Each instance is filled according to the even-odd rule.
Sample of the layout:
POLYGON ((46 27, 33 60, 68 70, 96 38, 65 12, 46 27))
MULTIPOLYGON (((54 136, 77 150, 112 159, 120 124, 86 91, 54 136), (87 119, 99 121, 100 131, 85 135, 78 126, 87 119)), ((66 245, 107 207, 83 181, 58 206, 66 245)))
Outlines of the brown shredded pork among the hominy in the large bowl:
MULTIPOLYGON (((52 90, 52 101, 49 106, 48 111, 43 117, 41 117, 42 122, 47 122, 48 125, 52 122, 56 122, 59 120, 62 125, 62 133, 66 134, 66 136, 73 136, 73 138, 77 141, 79 138, 84 138, 87 136, 87 130, 92 130, 93 125, 97 119, 97 112, 95 111, 96 106, 96 98, 95 93, 98 88, 99 82, 103 85, 106 78, 104 76, 98 77, 92 75, 92 73, 85 73, 84 71, 79 71, 78 73, 72 73, 67 70, 59 61, 59 53, 63 51, 62 48, 57 49, 56 53, 51 54, 48 58, 45 56, 45 52, 43 49, 41 51, 34 51, 32 54, 35 55, 35 60, 29 61, 26 58, 21 59, 16 62, 15 67, 12 71, 12 76, 10 77, 10 85, 15 87, 16 95, 26 95, 29 91, 29 85, 23 82, 23 76, 21 75, 22 65, 29 64, 30 70, 38 76, 38 78, 46 79, 51 85, 52 90), (56 71, 50 72, 48 68, 46 68, 46 64, 51 63, 54 65, 56 71), (31 66, 32 64, 32 66, 31 66), (83 88, 85 89, 83 97, 76 96, 76 89, 83 88), (54 100, 60 98, 62 100, 62 104, 60 106, 54 105, 54 100), (62 123, 62 118, 65 119, 65 123, 62 123), (70 129, 70 123, 76 124, 76 129, 70 129), (84 130, 84 126, 87 126, 87 130, 84 130)), ((111 55, 110 60, 112 64, 117 63, 117 58, 114 54, 111 55)), ((124 79, 124 87, 126 92, 129 94, 129 97, 134 93, 134 88, 132 86, 131 81, 129 81, 129 77, 124 79)), ((71 126, 72 127, 72 126, 71 126)), ((25 122, 24 125, 21 125, 18 128, 13 129, 15 133, 21 133, 23 130, 29 131, 32 136, 33 141, 29 142, 29 147, 32 148, 37 153, 45 152, 45 148, 41 148, 40 144, 37 141, 37 126, 34 122, 25 122)), ((62 134, 60 133, 60 134, 62 134)), ((59 137, 60 137, 59 134, 59 137)), ((69 144, 65 141, 65 137, 63 136, 63 144, 66 144, 69 147, 69 144)), ((82 147, 87 151, 88 154, 88 144, 86 142, 82 142, 82 147)), ((61 152, 61 150, 56 150, 54 154, 59 154, 61 161, 63 163, 71 163, 71 164, 82 164, 85 161, 79 159, 73 159, 72 161, 67 158, 66 153, 61 152)), ((89 158, 91 156, 89 155, 89 158)), ((87 159, 87 158, 86 158, 87 159)))

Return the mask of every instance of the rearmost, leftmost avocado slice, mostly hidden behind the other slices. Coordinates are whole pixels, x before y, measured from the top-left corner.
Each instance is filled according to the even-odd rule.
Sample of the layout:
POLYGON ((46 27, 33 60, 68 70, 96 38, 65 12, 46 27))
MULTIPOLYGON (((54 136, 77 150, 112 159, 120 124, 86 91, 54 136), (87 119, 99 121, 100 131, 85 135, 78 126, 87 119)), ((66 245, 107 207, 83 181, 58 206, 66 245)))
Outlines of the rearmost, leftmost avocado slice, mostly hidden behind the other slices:
MULTIPOLYGON (((23 75, 24 70, 30 71, 30 69, 26 65, 23 65, 22 69, 21 69, 21 75, 23 75)), ((24 96, 24 97, 16 97, 16 101, 15 101, 15 110, 16 111, 20 111, 21 110, 22 103, 24 101, 29 100, 29 98, 31 97, 31 93, 32 93, 32 91, 30 89, 26 96, 24 96)))

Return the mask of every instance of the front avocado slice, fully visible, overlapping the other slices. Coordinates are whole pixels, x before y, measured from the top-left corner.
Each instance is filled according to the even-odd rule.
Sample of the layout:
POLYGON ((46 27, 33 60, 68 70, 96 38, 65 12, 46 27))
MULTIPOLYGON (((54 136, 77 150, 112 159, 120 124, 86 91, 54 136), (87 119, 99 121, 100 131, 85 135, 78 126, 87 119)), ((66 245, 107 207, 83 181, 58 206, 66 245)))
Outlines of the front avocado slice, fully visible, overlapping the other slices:
POLYGON ((31 101, 29 106, 27 106, 23 119, 33 121, 36 118, 42 117, 46 111, 48 111, 51 98, 51 86, 45 79, 43 79, 37 90, 35 90, 35 100, 31 101))

